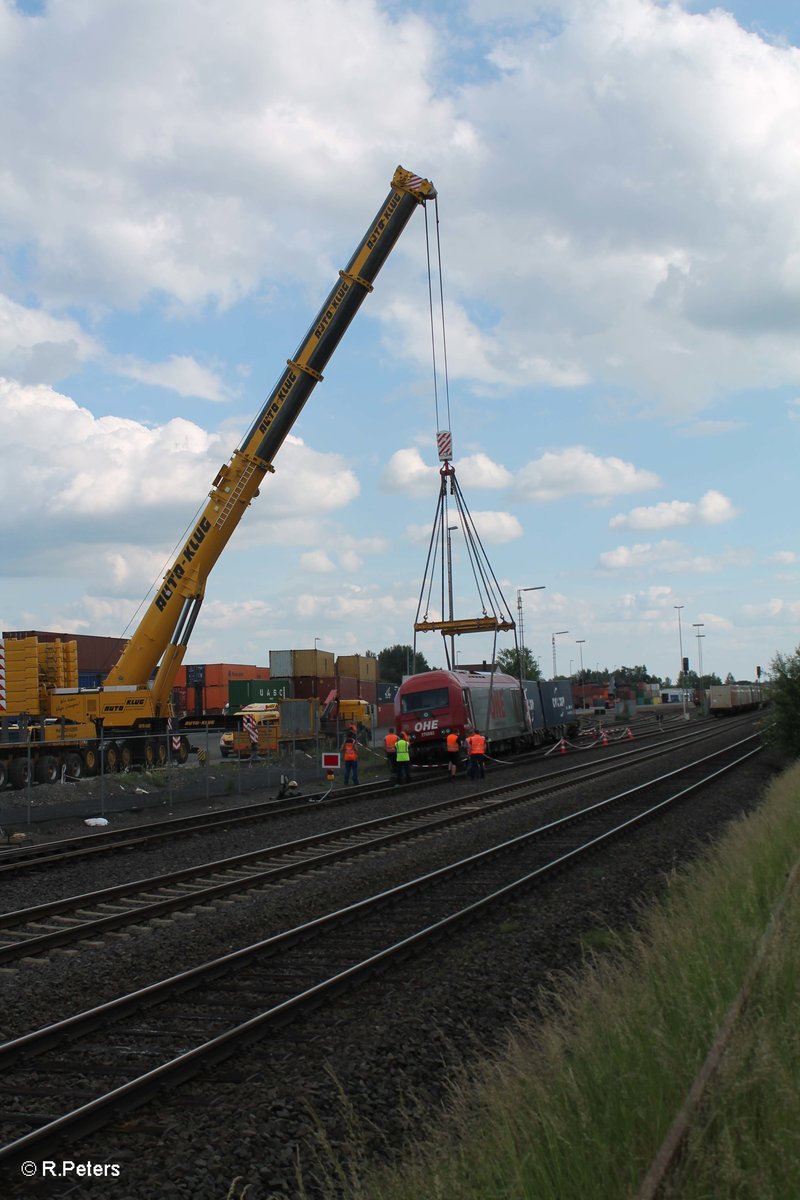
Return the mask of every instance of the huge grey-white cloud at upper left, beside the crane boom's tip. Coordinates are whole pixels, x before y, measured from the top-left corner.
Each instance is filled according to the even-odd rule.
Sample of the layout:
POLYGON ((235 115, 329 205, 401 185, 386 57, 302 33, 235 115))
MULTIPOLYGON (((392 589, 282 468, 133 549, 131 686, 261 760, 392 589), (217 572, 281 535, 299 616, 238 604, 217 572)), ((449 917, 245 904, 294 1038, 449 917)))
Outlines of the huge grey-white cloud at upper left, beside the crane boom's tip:
POLYGON ((0 226, 30 247, 53 301, 134 306, 158 292, 230 305, 264 264, 315 275, 317 198, 329 197, 325 238, 353 205, 332 179, 385 194, 409 130, 420 163, 470 144, 428 83, 431 26, 371 0, 175 0, 136 19, 86 0, 35 20, 6 11, 5 26, 0 226), (403 103, 365 103, 385 95, 390 65, 403 103), (359 86, 342 89, 342 72, 359 86))

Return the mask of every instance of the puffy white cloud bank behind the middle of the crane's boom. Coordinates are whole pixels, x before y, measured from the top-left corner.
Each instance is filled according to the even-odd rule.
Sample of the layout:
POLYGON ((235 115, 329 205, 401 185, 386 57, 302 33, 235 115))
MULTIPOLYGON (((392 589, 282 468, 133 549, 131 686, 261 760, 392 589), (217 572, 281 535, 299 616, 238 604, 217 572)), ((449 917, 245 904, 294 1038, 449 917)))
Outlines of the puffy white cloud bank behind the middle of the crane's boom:
MULTIPOLYGON (((28 553, 30 528, 37 530, 38 556, 48 546, 59 551, 70 539, 107 542, 110 530, 118 545, 167 550, 180 540, 194 505, 205 504, 211 480, 230 457, 222 442, 218 433, 182 418, 154 426, 96 418, 52 388, 0 380, 0 503, 18 515, 18 553, 28 553), (54 448, 44 456, 42 428, 54 448)), ((276 474, 265 479, 242 522, 247 534, 237 545, 318 541, 321 517, 357 494, 359 482, 342 456, 320 454, 289 434, 276 474)), ((8 540, 13 536, 11 529, 8 540)), ((119 562, 104 565, 112 578, 122 578, 119 562)))

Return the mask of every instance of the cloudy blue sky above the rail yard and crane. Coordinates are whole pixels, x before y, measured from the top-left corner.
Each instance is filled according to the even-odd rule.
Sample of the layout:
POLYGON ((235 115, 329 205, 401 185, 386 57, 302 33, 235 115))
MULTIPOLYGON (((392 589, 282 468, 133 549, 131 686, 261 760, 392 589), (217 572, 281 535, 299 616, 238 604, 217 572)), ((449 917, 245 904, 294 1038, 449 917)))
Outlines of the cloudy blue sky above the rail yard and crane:
MULTIPOLYGON (((458 479, 511 608, 545 586, 545 672, 567 630, 559 671, 674 677, 676 605, 693 667, 699 623, 722 677, 794 650, 799 46, 788 2, 0 0, 0 628, 130 628, 402 163, 439 191, 458 479)), ((187 661, 410 641, 435 427, 416 214, 187 661)), ((474 616, 458 533, 453 564, 474 616)))

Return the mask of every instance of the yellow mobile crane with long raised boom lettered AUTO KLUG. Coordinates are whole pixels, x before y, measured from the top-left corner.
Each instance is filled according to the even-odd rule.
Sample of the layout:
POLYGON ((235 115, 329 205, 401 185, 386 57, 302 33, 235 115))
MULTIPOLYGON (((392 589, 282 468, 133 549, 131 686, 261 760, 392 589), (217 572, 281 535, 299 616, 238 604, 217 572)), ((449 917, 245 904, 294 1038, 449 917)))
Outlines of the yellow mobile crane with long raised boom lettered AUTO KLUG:
MULTIPOLYGON (((240 448, 217 473, 207 503, 192 533, 163 577, 119 661, 97 689, 49 688, 37 719, 25 737, 0 734, 0 784, 56 778, 66 766, 95 774, 101 745, 106 769, 167 757, 172 719, 170 692, 203 604, 211 569, 228 544, 272 461, 317 383, 321 371, 359 311, 389 253, 417 206, 434 199, 433 184, 398 167, 391 191, 371 222, 338 282, 325 299, 294 358, 267 396, 240 448), (133 736, 137 734, 134 738, 133 736), (146 734, 143 739, 142 736, 146 734), (32 760, 31 760, 32 752, 32 760)), ((8 728, 8 719, 4 720, 8 728)), ((22 724, 17 733, 22 734, 22 724)), ((175 740, 179 761, 188 755, 185 736, 175 740)))

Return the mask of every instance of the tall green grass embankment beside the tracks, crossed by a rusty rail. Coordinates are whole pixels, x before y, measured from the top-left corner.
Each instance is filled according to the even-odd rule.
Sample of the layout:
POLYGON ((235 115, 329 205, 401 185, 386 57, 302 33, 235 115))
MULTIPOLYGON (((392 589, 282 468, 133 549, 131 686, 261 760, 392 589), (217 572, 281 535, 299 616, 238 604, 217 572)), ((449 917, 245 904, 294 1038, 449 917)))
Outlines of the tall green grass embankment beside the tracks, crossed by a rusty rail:
MULTIPOLYGON (((636 1196, 800 858, 800 766, 674 877, 620 953, 566 980, 545 1022, 453 1086, 447 1120, 357 1200, 636 1196)), ((664 1195, 800 1194, 800 887, 792 889, 664 1195)))

